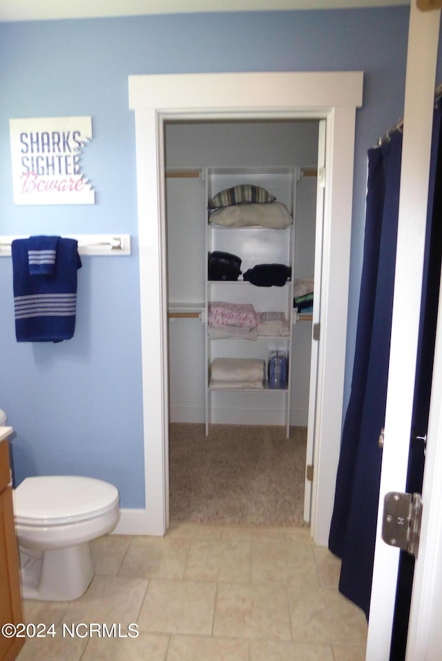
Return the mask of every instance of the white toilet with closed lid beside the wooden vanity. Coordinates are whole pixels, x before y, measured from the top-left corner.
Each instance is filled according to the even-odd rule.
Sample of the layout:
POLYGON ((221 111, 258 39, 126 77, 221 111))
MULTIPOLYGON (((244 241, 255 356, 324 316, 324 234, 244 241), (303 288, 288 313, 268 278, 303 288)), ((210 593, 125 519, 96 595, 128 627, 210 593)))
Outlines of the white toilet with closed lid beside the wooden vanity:
POLYGON ((119 521, 116 487, 93 477, 26 477, 13 500, 23 598, 81 597, 94 575, 89 542, 119 521))

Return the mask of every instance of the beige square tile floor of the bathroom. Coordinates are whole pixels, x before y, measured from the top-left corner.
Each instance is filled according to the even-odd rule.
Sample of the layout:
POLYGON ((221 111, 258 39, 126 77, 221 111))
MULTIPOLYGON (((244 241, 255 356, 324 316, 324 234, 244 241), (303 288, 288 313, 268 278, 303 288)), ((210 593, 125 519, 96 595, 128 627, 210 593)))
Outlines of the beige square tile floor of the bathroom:
POLYGON ((365 659, 365 615, 338 592, 339 562, 308 529, 182 524, 91 548, 96 573, 81 598, 25 602, 26 622, 54 622, 55 636, 28 638, 19 661, 365 659))

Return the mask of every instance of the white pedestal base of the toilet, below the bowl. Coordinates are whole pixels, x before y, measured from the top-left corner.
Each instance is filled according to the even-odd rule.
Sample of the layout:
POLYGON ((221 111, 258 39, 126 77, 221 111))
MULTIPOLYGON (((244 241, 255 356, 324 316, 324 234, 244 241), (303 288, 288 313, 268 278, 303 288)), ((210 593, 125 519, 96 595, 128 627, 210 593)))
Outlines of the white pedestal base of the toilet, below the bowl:
POLYGON ((27 551, 21 547, 20 555, 24 599, 78 599, 93 579, 89 542, 50 551, 27 551))

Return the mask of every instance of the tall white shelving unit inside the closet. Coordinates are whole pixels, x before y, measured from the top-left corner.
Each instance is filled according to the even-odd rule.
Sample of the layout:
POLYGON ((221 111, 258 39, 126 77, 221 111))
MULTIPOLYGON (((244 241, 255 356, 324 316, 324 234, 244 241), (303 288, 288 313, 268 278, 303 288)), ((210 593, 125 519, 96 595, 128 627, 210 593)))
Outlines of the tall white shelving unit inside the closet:
MULTIPOLYGON (((296 209, 296 183, 300 170, 295 167, 284 168, 206 168, 206 199, 225 188, 238 184, 256 184, 269 191, 276 199, 287 206, 294 216, 296 209)), ((209 212, 210 213, 210 212, 209 212)), ((285 229, 269 229, 263 227, 226 228, 206 223, 207 253, 220 250, 237 255, 242 260, 241 271, 253 268, 257 264, 285 264, 294 268, 295 219, 294 223, 285 229)), ((207 260, 206 260, 207 261, 207 260)), ((238 281, 209 281, 206 266, 206 435, 210 424, 220 422, 219 411, 230 411, 231 419, 223 422, 242 424, 263 424, 262 417, 270 416, 269 424, 285 424, 287 437, 290 426, 291 400, 291 364, 290 348, 292 328, 296 323, 293 309, 294 278, 280 286, 255 286, 244 281, 242 275, 238 281), (289 324, 287 337, 259 336, 256 340, 249 339, 210 339, 207 319, 209 303, 224 301, 229 303, 250 303, 256 312, 283 312, 289 324), (271 389, 266 382, 262 390, 246 390, 231 388, 216 390, 209 388, 210 371, 213 360, 217 357, 250 357, 265 360, 266 371, 270 352, 284 351, 287 355, 287 387, 271 389), (249 416, 249 418, 248 418, 249 416), (214 419, 215 418, 215 419, 214 419), (244 422, 249 420, 249 422, 244 422)), ((225 414, 224 414, 225 415, 225 414)))

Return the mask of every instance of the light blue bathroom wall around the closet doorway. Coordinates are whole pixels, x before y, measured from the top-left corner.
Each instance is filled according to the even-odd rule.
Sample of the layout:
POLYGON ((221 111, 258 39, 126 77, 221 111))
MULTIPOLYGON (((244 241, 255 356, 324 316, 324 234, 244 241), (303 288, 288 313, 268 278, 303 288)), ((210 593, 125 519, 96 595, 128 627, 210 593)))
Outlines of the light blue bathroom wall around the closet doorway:
MULTIPOLYGON (((17 429, 17 481, 82 473, 144 506, 135 130, 128 75, 364 70, 358 110, 346 390, 351 379, 366 152, 403 112, 408 10, 164 15, 0 25, 0 234, 129 233, 131 257, 84 257, 75 337, 17 344, 9 258, 0 259, 0 408, 17 429), (90 115, 94 206, 15 206, 8 119, 90 115)), ((210 90, 207 90, 210 95, 210 90)))

